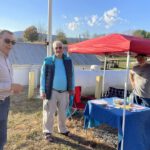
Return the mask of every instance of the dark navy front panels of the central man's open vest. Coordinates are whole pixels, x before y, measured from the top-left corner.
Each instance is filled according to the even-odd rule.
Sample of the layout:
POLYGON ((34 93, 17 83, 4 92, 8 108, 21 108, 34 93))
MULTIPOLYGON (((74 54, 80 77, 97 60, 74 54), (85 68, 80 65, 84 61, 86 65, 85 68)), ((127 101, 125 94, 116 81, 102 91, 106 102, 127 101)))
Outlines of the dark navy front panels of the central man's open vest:
MULTIPOLYGON (((65 66, 66 77, 67 77, 67 91, 73 89, 72 87, 72 76, 73 76, 73 66, 71 59, 67 59, 66 56, 63 56, 63 63, 65 66)), ((55 74, 55 63, 54 61, 51 64, 45 65, 45 93, 46 99, 51 99, 52 94, 52 87, 53 87, 53 80, 55 74)))

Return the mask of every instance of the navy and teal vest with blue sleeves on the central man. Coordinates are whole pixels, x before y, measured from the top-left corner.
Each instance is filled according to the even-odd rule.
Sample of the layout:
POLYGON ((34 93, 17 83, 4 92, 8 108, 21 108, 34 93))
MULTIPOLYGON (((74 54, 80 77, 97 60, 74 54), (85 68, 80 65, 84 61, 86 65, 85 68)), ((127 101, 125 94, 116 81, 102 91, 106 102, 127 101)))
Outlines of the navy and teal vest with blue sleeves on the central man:
MULTIPOLYGON (((74 89, 74 68, 70 57, 63 54, 63 63, 67 77, 67 91, 74 89)), ((46 99, 51 99, 53 79, 55 74, 55 55, 46 57, 41 68, 40 92, 46 94, 46 99)))

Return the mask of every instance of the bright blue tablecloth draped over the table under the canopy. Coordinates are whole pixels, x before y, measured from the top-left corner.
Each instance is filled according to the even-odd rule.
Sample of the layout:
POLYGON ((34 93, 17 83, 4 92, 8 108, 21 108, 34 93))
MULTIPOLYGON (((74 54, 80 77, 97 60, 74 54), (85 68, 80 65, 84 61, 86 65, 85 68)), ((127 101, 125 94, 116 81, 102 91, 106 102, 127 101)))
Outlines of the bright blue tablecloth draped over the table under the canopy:
MULTIPOLYGON (((112 98, 106 98, 112 103, 112 98)), ((118 150, 121 149, 123 110, 105 108, 88 101, 84 111, 84 128, 102 123, 118 128, 118 150)), ((150 108, 137 112, 126 111, 124 150, 150 150, 150 108)))

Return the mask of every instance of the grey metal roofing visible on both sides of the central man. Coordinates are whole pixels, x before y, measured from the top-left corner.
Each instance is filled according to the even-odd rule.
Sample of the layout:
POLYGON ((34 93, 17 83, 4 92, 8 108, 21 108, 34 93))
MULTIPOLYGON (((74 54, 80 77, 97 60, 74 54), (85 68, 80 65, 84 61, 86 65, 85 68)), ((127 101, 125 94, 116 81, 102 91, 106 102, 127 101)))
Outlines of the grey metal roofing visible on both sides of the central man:
MULTIPOLYGON (((10 52, 9 59, 12 64, 42 64, 46 57, 46 46, 43 44, 16 43, 10 52)), ((95 55, 70 54, 74 65, 100 65, 95 55)))

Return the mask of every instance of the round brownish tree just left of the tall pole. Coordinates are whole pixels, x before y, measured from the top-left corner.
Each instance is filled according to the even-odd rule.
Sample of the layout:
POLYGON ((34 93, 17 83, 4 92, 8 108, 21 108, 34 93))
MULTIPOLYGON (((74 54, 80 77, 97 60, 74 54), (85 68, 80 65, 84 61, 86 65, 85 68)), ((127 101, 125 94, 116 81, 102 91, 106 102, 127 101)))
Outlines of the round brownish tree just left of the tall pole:
POLYGON ((24 31, 24 38, 27 41, 37 41, 38 40, 38 32, 35 26, 30 26, 24 31))

